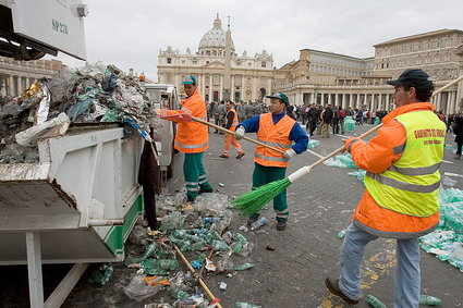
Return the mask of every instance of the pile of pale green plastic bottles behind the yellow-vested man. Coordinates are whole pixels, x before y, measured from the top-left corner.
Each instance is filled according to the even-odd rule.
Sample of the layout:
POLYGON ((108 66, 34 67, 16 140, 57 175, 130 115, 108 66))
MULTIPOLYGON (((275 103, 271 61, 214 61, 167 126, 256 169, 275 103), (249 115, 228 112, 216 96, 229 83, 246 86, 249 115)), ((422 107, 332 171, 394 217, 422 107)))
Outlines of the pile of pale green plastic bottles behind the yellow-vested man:
POLYGON ((441 188, 439 190, 439 227, 419 238, 424 250, 435 254, 441 261, 463 272, 463 190, 441 188))

